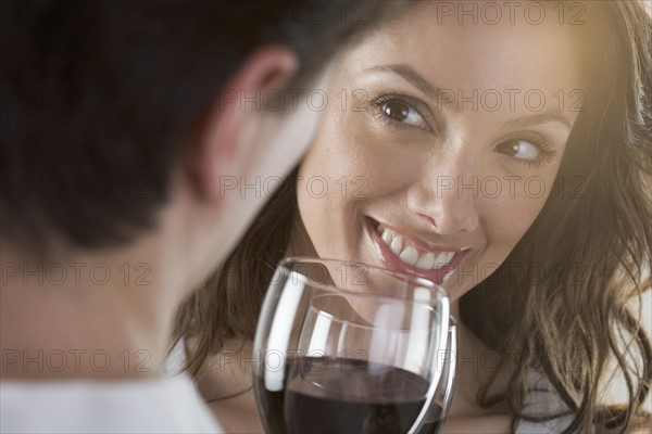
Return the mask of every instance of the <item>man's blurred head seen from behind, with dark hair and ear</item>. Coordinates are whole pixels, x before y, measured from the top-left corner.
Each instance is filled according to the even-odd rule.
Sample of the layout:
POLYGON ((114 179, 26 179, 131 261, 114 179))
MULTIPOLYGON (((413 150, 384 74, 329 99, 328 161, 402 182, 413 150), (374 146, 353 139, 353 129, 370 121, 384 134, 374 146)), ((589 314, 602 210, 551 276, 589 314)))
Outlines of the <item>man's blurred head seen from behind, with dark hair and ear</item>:
POLYGON ((310 142, 334 52, 389 9, 312 0, 8 7, 3 239, 97 250, 181 224, 179 248, 203 245, 196 256, 215 264, 279 184, 271 177, 310 142))

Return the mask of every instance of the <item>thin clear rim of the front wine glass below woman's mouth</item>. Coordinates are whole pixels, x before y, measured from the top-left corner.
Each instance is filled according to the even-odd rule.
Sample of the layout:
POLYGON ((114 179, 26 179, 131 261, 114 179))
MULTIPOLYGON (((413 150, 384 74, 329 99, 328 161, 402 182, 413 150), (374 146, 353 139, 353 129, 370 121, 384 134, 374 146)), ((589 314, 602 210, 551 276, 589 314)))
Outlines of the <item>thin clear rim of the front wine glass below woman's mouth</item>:
MULTIPOLYGON (((351 265, 351 266, 365 267, 365 270, 372 270, 372 271, 376 271, 376 272, 379 272, 383 275, 391 276, 393 278, 401 279, 404 282, 406 282, 408 284, 412 284, 414 286, 421 286, 421 288, 425 286, 426 289, 436 293, 438 295, 438 297, 449 299, 448 292, 443 289, 443 286, 432 282, 431 280, 421 278, 418 276, 413 276, 413 275, 410 275, 410 273, 403 272, 403 271, 397 271, 397 270, 391 270, 389 268, 377 267, 377 266, 369 265, 369 264, 362 263, 362 261, 321 258, 321 257, 316 257, 316 256, 287 256, 278 263, 277 267, 283 268, 284 270, 290 272, 290 271, 296 271, 296 270, 292 270, 291 268, 289 268, 288 265, 302 264, 302 263, 304 263, 304 264, 325 264, 325 263, 326 264, 347 264, 347 265, 351 265)), ((301 276, 310 279, 305 275, 301 275, 301 276)), ((311 284, 314 284, 314 283, 311 282, 311 284)), ((348 292, 351 294, 359 294, 359 293, 355 293, 355 292, 347 290, 347 289, 338 288, 337 285, 331 284, 331 283, 318 282, 315 285, 318 285, 319 288, 324 288, 324 289, 333 289, 336 291, 344 291, 344 292, 348 292)), ((367 295, 399 298, 398 295, 393 296, 392 294, 367 294, 367 295)))

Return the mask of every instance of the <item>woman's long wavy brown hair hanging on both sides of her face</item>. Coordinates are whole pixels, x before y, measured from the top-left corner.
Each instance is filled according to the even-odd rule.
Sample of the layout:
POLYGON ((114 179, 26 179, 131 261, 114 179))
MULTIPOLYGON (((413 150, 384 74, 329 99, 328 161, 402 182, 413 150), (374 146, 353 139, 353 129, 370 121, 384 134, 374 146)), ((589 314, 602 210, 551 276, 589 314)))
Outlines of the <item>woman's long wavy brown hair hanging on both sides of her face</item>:
MULTIPOLYGON (((480 388, 481 406, 506 400, 518 418, 559 417, 524 410, 526 374, 537 367, 574 417, 564 433, 593 425, 625 432, 650 422, 641 405, 652 382, 652 350, 630 302, 650 289, 652 269, 652 23, 634 1, 586 7, 600 28, 591 35, 591 110, 573 128, 555 192, 501 267, 461 298, 461 319, 502 355, 480 388), (534 268, 536 279, 528 272, 534 268), (622 406, 600 403, 614 360, 628 391, 622 406), (504 372, 507 390, 490 395, 504 372)), ((176 332, 193 340, 190 372, 197 374, 226 340, 253 339, 267 282, 298 216, 291 176, 183 306, 176 332)))

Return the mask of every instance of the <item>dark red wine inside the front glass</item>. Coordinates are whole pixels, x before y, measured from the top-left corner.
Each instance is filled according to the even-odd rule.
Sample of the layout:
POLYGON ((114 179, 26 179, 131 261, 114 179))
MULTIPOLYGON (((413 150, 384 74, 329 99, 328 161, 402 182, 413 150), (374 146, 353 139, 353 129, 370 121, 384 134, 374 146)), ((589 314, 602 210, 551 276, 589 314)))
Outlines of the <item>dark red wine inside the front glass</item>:
POLYGON ((272 433, 406 433, 426 400, 415 373, 343 358, 298 358, 286 365, 285 390, 258 379, 262 416, 272 433))

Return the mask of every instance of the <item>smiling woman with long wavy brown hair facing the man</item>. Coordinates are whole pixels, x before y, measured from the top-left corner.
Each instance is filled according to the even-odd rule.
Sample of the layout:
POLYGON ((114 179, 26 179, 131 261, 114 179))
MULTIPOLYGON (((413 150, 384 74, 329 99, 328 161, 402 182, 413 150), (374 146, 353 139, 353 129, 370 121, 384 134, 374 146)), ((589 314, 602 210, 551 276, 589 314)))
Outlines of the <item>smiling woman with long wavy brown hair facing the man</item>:
POLYGON ((649 289, 652 25, 636 2, 543 4, 485 23, 417 2, 346 53, 294 176, 179 315, 204 384, 212 355, 252 339, 278 260, 316 255, 449 292, 447 431, 649 422, 652 352, 627 304, 649 289), (626 403, 603 399, 612 374, 626 403))

